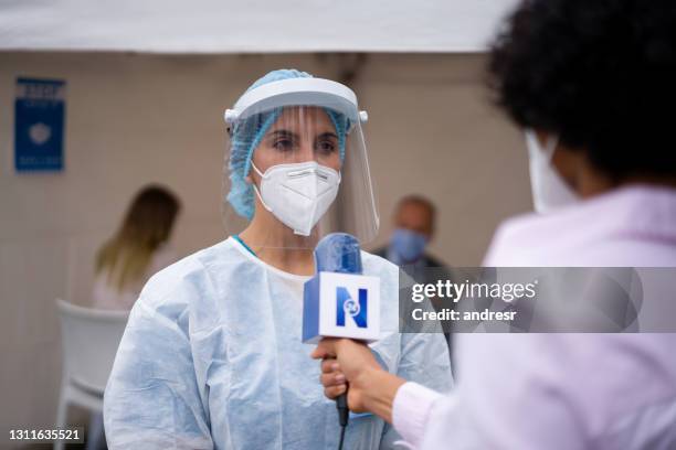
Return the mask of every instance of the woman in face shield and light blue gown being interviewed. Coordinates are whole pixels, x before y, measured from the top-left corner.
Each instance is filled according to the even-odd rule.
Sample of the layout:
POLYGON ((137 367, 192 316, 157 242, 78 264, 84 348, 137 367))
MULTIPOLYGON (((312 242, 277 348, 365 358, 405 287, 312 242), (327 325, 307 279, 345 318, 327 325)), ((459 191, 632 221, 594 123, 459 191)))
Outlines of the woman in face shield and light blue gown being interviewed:
MULTIPOLYGON (((155 276, 129 318, 105 393, 114 449, 336 449, 338 415, 300 342, 303 285, 318 239, 378 229, 357 97, 346 86, 282 69, 225 113, 225 217, 244 231, 155 276), (241 219, 239 222, 242 222, 241 219)), ((381 280, 381 367, 451 387, 442 334, 398 333, 398 269, 362 254, 381 280)), ((353 417, 345 448, 392 448, 393 429, 353 417)))

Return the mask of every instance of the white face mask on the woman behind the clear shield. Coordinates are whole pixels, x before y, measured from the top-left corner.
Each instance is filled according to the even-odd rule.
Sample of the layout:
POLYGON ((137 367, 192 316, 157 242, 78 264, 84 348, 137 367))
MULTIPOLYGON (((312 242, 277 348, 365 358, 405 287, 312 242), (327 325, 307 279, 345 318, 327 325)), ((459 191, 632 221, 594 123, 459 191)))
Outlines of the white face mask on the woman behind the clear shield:
POLYGON ((315 161, 273 165, 261 173, 261 192, 254 190, 263 206, 295 234, 309 236, 328 211, 340 184, 340 173, 315 161))

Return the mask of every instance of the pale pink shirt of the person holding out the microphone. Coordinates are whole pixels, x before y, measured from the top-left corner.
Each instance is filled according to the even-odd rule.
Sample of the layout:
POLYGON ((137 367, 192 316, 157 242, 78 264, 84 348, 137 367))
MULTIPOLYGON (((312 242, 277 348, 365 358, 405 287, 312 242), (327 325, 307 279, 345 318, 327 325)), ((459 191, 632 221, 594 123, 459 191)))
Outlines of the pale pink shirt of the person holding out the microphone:
MULTIPOLYGON (((507 221, 484 265, 676 267, 676 190, 629 186, 507 221)), ((676 448, 676 334, 460 334, 456 352, 450 396, 397 393, 393 425, 412 448, 676 448)))

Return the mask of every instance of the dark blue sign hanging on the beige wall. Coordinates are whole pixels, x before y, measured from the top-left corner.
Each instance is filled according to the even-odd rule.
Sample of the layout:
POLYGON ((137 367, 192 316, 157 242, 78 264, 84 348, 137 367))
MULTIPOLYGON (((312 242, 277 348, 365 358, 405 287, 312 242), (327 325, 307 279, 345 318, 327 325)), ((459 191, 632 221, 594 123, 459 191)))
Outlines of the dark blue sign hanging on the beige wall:
POLYGON ((65 82, 17 79, 14 168, 17 172, 63 170, 65 82))

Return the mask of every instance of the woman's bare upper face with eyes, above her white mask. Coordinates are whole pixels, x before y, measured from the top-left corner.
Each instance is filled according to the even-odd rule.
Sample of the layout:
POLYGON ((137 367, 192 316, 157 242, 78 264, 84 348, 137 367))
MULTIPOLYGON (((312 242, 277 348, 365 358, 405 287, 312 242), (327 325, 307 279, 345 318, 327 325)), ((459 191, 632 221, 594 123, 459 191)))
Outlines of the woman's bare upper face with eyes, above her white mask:
MULTIPOLYGON (((273 165, 308 161, 340 171, 336 127, 324 108, 284 108, 255 149, 253 162, 265 173, 273 165)), ((257 180, 254 171, 250 176, 257 180)))

